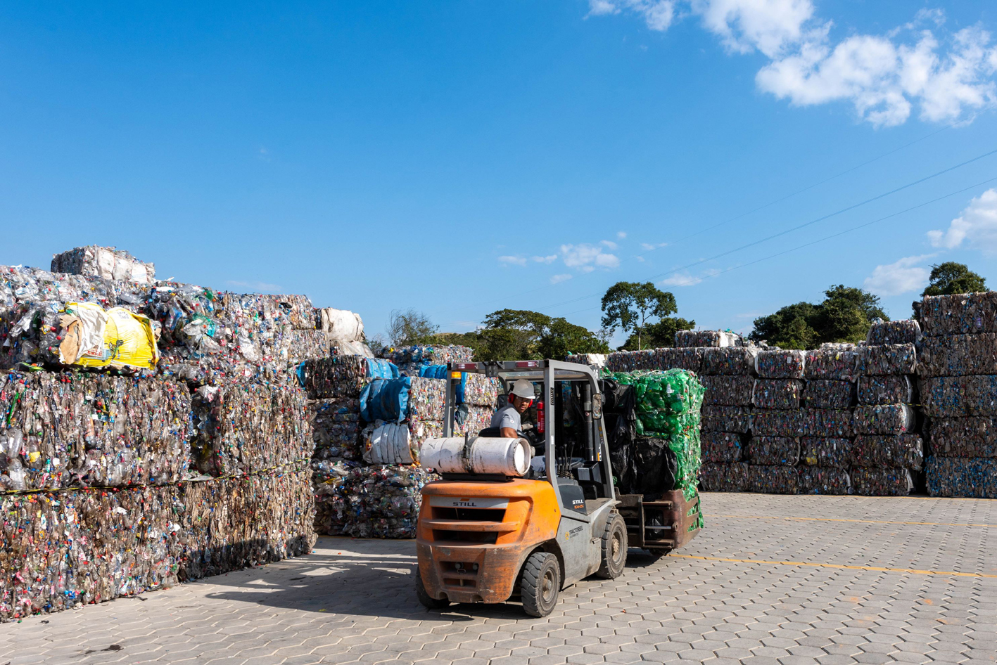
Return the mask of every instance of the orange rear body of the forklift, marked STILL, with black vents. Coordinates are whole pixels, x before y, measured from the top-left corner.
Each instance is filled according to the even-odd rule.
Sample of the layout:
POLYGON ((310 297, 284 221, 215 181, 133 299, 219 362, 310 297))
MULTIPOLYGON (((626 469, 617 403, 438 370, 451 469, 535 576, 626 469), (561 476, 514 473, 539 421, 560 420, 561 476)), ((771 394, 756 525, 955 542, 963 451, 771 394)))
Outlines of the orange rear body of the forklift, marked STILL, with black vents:
POLYGON ((526 556, 557 532, 559 521, 547 482, 430 483, 416 533, 419 574, 436 598, 502 602, 526 556))

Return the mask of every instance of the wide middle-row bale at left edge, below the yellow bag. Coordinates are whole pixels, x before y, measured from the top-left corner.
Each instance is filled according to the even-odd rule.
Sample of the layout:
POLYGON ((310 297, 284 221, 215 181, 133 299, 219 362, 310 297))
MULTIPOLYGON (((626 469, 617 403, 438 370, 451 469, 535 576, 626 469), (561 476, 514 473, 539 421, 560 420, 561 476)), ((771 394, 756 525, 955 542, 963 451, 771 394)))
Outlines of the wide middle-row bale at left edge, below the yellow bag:
POLYGON ((0 375, 0 491, 175 483, 189 422, 190 394, 170 379, 0 375))

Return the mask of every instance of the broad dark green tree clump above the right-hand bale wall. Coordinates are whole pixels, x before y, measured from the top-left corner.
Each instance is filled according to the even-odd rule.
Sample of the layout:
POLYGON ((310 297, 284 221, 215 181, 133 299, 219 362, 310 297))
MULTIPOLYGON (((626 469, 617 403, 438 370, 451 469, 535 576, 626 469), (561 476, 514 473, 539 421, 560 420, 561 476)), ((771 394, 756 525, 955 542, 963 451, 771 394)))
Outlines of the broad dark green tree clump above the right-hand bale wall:
POLYGON ((824 292, 819 305, 797 303, 755 320, 751 339, 783 348, 815 348, 826 341, 864 339, 873 319, 889 320, 872 294, 837 285, 824 292))

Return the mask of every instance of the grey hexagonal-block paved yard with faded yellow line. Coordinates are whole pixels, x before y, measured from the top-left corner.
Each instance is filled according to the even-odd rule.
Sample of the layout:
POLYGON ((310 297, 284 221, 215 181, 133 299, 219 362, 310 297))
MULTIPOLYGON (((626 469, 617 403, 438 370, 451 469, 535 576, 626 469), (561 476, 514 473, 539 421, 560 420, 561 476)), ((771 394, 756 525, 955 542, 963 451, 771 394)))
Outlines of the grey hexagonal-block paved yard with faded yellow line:
POLYGON ((28 663, 993 663, 997 501, 708 494, 678 555, 515 605, 423 609, 411 542, 314 554, 0 625, 28 663))

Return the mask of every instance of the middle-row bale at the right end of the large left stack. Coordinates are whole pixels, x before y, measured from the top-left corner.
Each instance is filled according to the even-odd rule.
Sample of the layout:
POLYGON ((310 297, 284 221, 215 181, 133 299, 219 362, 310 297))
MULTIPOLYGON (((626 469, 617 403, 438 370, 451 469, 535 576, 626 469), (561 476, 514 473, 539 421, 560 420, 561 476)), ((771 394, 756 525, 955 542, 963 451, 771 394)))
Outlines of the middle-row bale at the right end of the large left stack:
POLYGON ((201 473, 256 473, 312 456, 305 392, 290 381, 201 386, 192 409, 191 457, 201 473))

